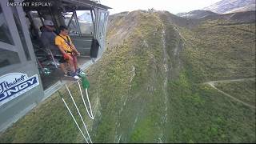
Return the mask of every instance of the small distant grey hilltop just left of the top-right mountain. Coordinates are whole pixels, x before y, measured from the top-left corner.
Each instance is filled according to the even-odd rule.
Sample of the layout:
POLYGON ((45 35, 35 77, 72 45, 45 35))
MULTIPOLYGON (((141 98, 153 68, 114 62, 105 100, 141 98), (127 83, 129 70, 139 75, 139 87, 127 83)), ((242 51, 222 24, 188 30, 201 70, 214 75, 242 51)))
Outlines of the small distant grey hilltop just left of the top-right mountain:
POLYGON ((217 15, 217 14, 210 10, 193 10, 188 13, 178 13, 176 15, 182 18, 204 18, 206 16, 217 15))

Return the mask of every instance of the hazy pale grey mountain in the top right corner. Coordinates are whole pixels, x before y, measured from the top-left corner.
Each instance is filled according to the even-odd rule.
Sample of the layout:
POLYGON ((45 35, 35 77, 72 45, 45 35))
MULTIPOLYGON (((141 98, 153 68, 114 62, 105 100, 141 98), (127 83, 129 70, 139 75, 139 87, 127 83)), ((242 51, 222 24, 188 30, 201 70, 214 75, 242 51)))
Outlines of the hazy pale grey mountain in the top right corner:
POLYGON ((255 10, 255 0, 222 0, 202 10, 210 10, 218 14, 255 10))

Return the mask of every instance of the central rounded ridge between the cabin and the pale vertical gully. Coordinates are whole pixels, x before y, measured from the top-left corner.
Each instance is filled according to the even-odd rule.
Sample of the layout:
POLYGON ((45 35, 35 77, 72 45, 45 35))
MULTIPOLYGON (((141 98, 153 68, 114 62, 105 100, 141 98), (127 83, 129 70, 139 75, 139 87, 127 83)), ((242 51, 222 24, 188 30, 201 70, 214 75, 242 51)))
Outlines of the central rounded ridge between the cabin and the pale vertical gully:
POLYGON ((161 141, 168 121, 166 27, 157 13, 142 11, 118 17, 110 26, 108 50, 90 70, 98 77, 91 79, 97 86, 92 93, 101 103, 95 142, 161 141), (126 35, 110 46, 117 34, 126 35))

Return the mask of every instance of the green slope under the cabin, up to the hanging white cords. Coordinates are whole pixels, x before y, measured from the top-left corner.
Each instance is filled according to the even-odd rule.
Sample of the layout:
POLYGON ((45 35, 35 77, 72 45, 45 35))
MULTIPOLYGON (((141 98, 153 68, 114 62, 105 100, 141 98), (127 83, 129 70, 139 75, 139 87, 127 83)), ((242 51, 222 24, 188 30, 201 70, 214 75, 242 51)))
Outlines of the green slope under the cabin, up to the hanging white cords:
MULTIPOLYGON (((86 114, 86 110, 82 104, 82 98, 78 91, 78 86, 74 83, 70 83, 69 85, 74 100, 78 103, 78 107, 81 108, 81 114, 90 128, 92 121, 90 121, 90 118, 86 114)), ((74 113, 74 117, 78 120, 78 113, 75 111, 75 107, 66 88, 63 87, 59 91, 66 99, 66 103, 70 106, 70 110, 74 113)), ((78 124, 81 129, 86 132, 82 126, 81 120, 78 120, 78 124)), ((0 135, 0 143, 29 142, 70 143, 86 141, 82 138, 82 134, 78 132, 78 128, 68 113, 61 97, 58 93, 55 93, 0 135)))

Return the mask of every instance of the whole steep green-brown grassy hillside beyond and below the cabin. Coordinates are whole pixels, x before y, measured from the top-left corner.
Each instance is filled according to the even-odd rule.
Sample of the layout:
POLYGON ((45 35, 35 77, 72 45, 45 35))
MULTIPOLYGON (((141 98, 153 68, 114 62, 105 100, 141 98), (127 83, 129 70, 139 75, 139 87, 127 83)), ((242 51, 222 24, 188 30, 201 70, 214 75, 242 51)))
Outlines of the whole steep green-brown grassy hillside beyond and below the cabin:
MULTIPOLYGON (((94 121, 82 114, 93 142, 256 142, 255 81, 232 81, 255 78, 255 22, 142 10, 109 19, 107 50, 86 71, 94 121)), ((85 142, 58 94, 0 139, 85 142)))

